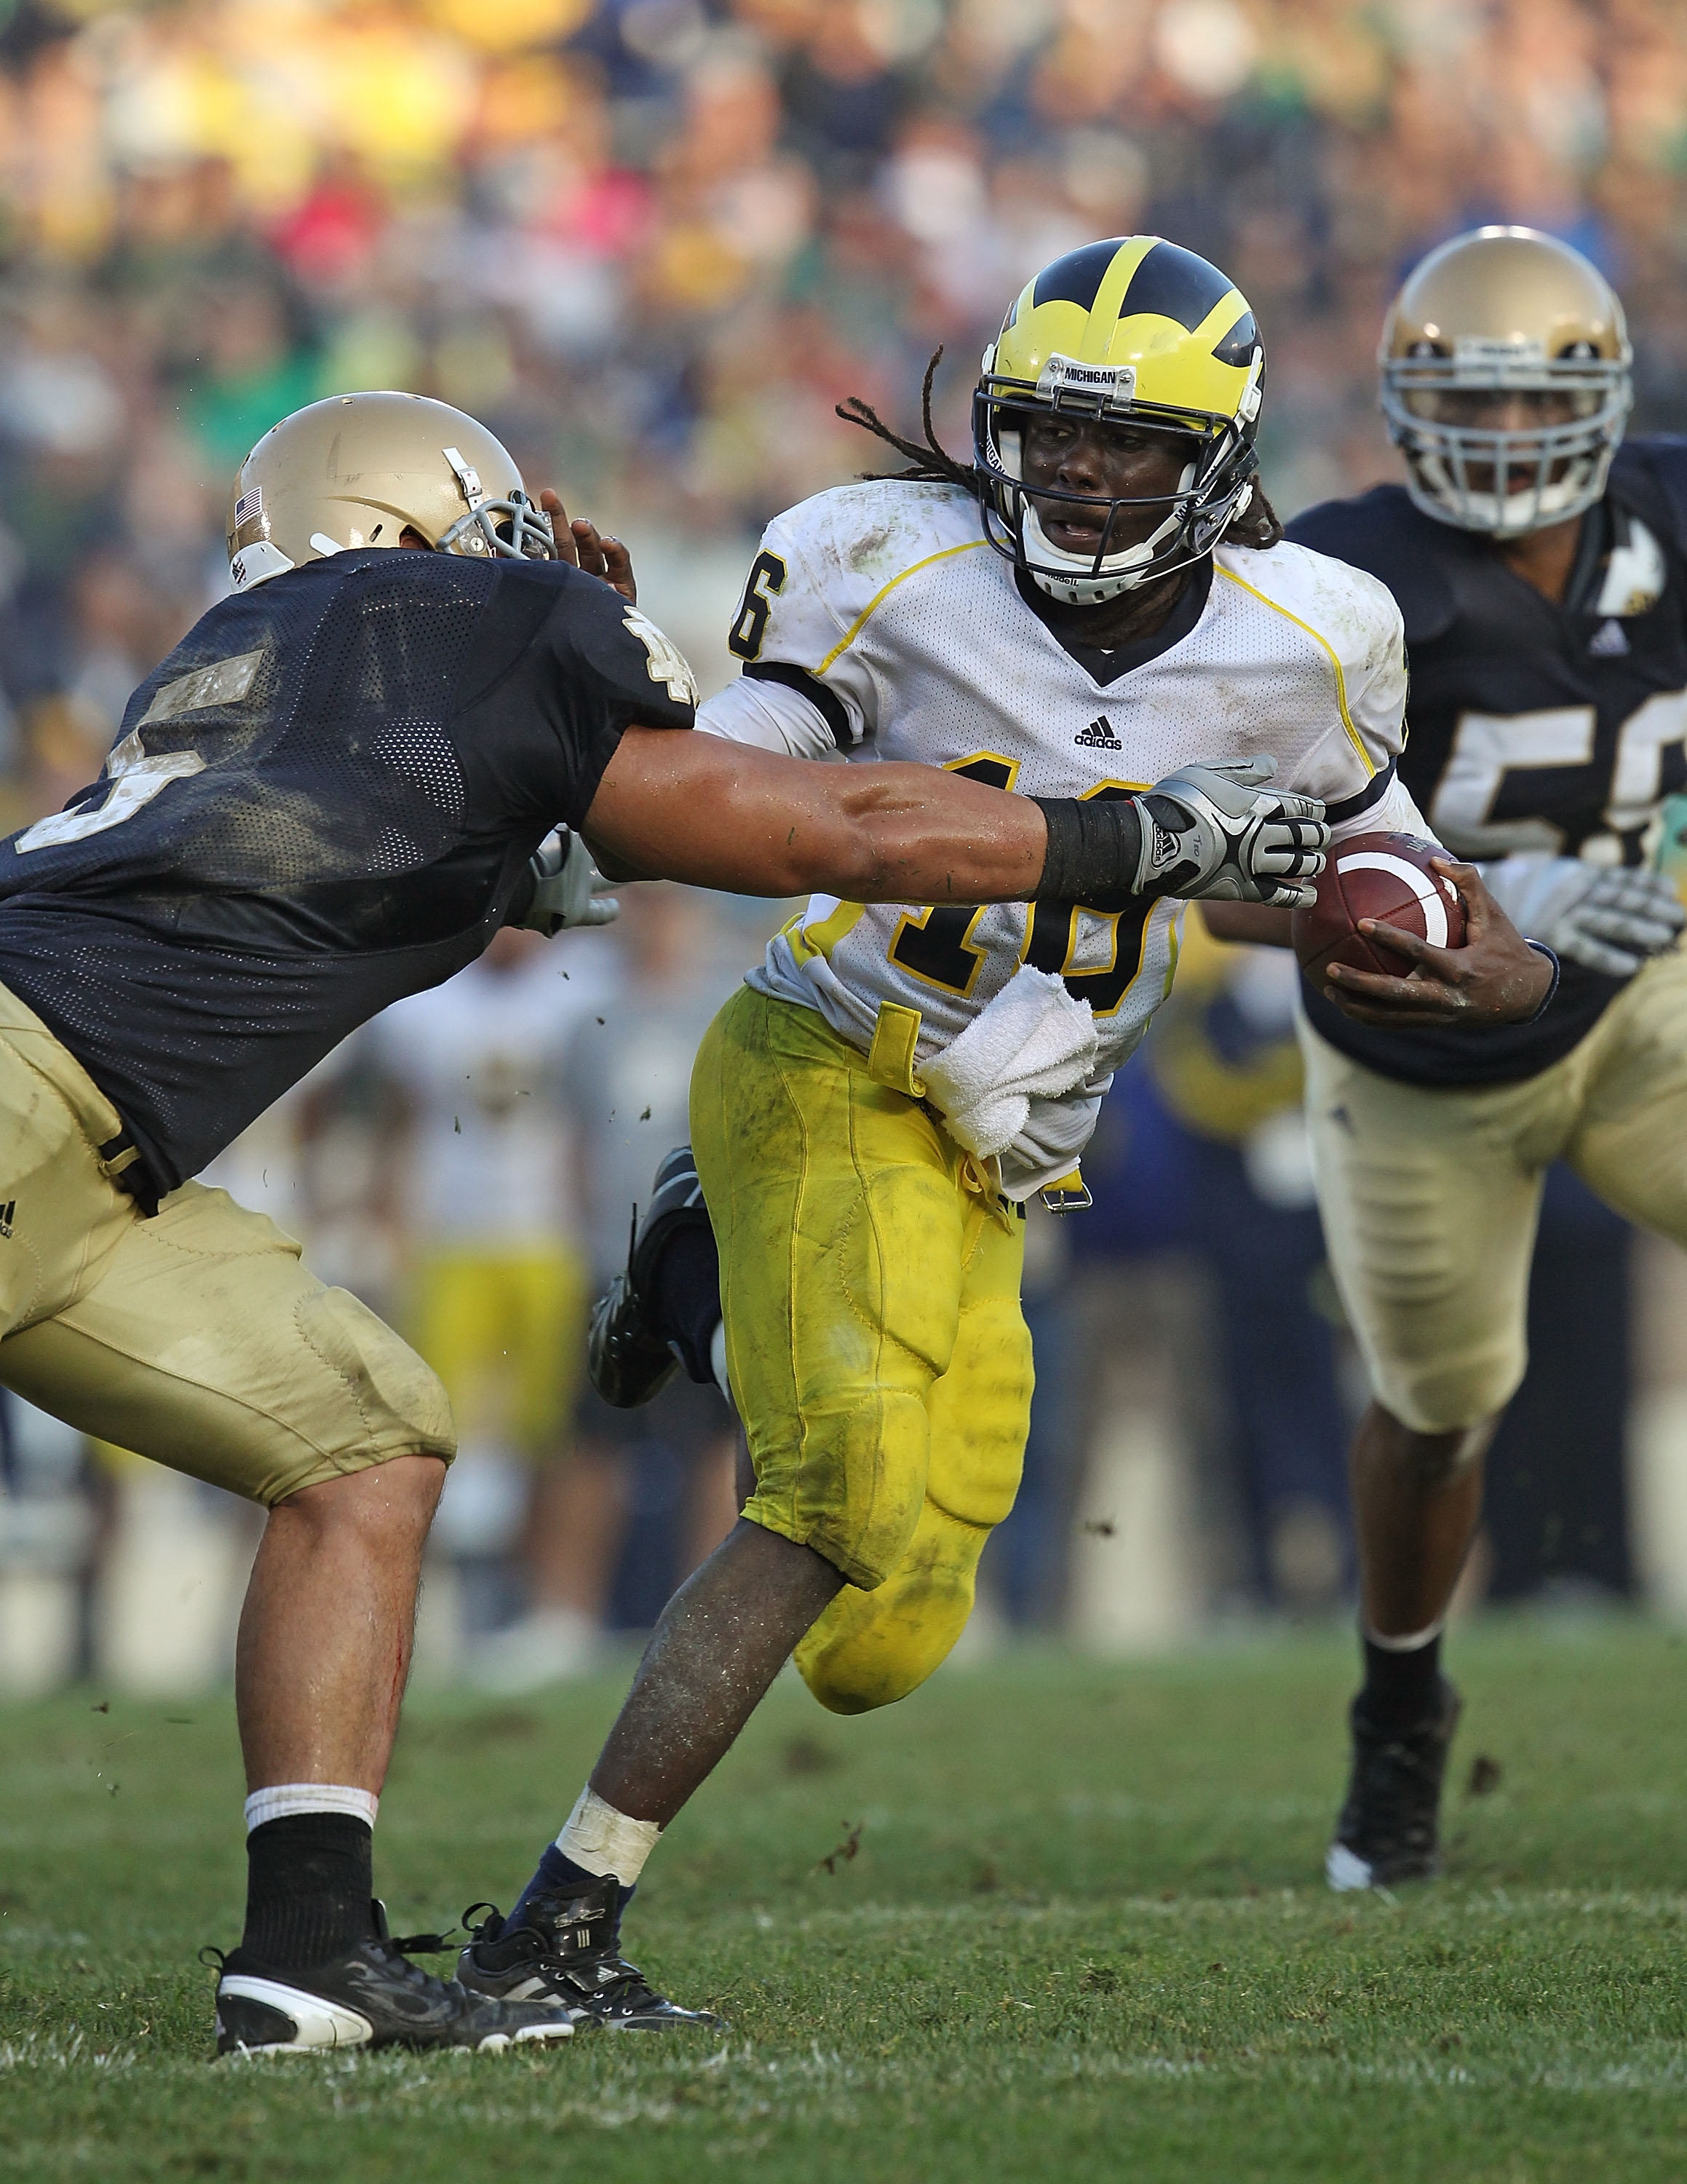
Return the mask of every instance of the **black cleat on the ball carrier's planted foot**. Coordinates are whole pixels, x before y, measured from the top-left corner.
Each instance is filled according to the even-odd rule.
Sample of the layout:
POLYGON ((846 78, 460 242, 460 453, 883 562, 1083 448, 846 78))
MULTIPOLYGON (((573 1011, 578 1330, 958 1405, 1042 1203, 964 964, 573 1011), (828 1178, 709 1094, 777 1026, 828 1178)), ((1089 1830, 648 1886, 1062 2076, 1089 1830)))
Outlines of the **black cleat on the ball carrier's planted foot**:
POLYGON ((611 2033, 661 2033, 683 2025, 725 2031, 709 2009, 681 2009, 646 1981, 637 1966, 615 1955, 622 1891, 613 1874, 570 1896, 563 1889, 530 1896, 519 1926, 493 1904, 469 1904, 487 1918, 469 1928, 456 1977, 471 1994, 493 2001, 548 2001, 611 2033))

